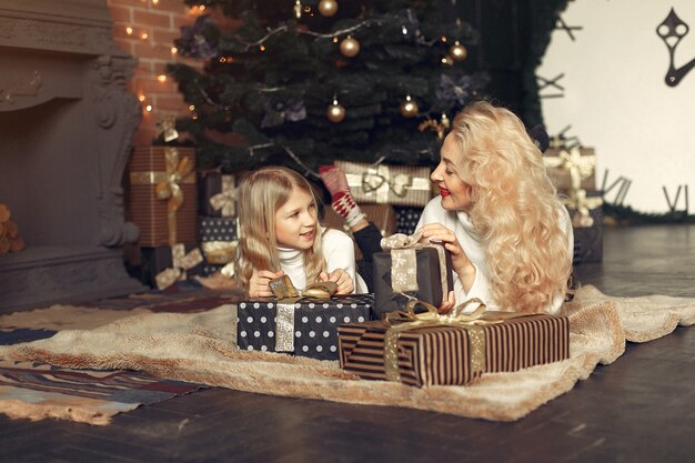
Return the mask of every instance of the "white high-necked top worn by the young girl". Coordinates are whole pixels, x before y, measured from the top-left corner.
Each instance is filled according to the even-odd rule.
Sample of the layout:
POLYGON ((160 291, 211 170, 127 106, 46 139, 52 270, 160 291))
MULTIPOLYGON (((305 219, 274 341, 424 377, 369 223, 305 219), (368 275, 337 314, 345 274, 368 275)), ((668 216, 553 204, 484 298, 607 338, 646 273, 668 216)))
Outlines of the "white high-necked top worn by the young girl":
MULTIPOLYGON (((326 272, 331 273, 336 269, 343 269, 352 278, 355 286, 353 294, 366 292, 366 284, 356 271, 352 238, 340 230, 324 229, 321 246, 325 258, 326 272)), ((290 276, 292 284, 296 289, 306 288, 306 271, 304 270, 302 250, 278 248, 278 253, 280 254, 280 268, 290 276)))

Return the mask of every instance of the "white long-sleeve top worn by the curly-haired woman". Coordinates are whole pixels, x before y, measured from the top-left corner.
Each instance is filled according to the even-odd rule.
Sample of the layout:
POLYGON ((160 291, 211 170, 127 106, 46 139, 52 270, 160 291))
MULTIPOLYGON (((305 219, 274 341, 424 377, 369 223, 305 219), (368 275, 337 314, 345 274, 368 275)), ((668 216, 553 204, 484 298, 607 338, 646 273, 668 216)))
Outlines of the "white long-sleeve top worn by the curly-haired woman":
MULTIPOLYGON (((572 222, 570 221, 570 214, 562 208, 561 227, 567 235, 567 246, 570 249, 570 255, 574 251, 574 233, 572 231, 572 222)), ((485 259, 485 250, 483 249, 481 235, 471 223, 469 214, 463 211, 447 211, 442 208, 442 200, 440 197, 432 199, 425 207, 420 221, 417 222, 417 229, 425 223, 441 223, 451 231, 454 232, 461 248, 466 253, 466 256, 475 268, 475 280, 471 290, 466 292, 463 289, 461 280, 454 274, 454 295, 456 298, 456 304, 461 304, 473 298, 479 298, 487 305, 487 310, 502 310, 497 302, 494 300, 490 288, 490 270, 485 259)), ((564 294, 557 294, 552 304, 546 308, 547 313, 557 313, 564 301, 564 294)), ((464 312, 472 312, 477 308, 477 304, 470 304, 464 312)))

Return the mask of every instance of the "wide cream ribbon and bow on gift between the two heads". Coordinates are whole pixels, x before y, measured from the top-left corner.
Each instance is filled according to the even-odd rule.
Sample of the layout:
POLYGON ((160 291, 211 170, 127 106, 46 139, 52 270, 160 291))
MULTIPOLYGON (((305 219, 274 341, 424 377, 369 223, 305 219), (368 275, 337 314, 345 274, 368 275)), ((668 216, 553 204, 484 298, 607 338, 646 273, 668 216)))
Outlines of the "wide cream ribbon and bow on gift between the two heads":
MULTIPOLYGON (((343 168, 344 170, 344 168, 343 168)), ((374 193, 377 203, 389 202, 389 191, 403 198, 409 190, 430 191, 430 179, 413 178, 406 173, 391 175, 389 165, 370 165, 362 173, 345 173, 348 185, 362 188, 365 194, 374 193)))

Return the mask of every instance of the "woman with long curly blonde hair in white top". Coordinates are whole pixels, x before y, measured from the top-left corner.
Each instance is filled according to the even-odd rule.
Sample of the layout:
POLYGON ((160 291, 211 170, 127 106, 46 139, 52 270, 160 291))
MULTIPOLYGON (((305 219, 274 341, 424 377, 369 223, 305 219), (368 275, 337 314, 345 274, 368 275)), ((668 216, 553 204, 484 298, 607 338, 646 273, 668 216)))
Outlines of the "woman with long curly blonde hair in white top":
POLYGON ((441 195, 419 228, 444 242, 455 272, 440 311, 479 298, 488 310, 556 313, 572 272, 572 224, 518 118, 487 102, 466 107, 431 179, 441 195))

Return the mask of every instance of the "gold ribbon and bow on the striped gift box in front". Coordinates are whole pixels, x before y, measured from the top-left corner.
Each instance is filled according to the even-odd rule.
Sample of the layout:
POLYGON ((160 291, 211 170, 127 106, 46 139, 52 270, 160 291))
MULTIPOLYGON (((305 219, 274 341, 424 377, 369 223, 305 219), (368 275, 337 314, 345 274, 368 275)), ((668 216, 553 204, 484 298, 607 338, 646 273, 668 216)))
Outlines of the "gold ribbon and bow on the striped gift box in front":
MULTIPOLYGON (((424 326, 459 326, 469 333, 470 339, 470 366, 471 374, 479 375, 485 371, 485 331, 482 326, 503 323, 505 320, 518 319, 523 316, 532 316, 534 313, 515 313, 515 312, 494 312, 494 319, 483 319, 487 310, 485 303, 479 298, 470 299, 462 304, 456 305, 450 313, 440 314, 437 309, 423 301, 411 298, 405 306, 405 311, 390 312, 384 319, 384 323, 389 326, 384 335, 384 370, 389 381, 401 382, 401 372, 399 371, 399 350, 397 343, 401 333, 424 326), (472 313, 463 313, 463 310, 472 304, 479 303, 479 306, 472 313), (426 312, 415 313, 415 308, 423 306, 426 312), (402 322, 391 325, 391 322, 402 322)), ((491 316, 490 312, 487 316, 491 316)))

